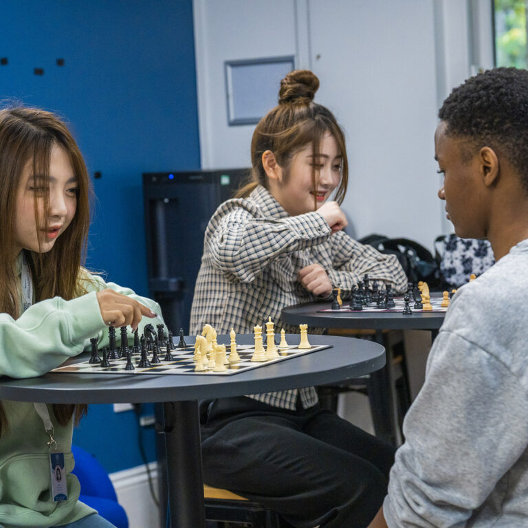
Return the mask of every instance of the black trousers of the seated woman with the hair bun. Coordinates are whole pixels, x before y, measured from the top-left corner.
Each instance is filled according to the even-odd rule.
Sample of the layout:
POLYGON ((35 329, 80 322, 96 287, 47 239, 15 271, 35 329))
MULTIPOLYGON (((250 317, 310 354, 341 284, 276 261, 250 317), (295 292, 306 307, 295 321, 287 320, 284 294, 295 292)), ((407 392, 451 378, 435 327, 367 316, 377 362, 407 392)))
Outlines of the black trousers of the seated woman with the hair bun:
POLYGON ((387 491, 394 448, 319 406, 217 399, 201 429, 203 479, 297 528, 363 528, 387 491))

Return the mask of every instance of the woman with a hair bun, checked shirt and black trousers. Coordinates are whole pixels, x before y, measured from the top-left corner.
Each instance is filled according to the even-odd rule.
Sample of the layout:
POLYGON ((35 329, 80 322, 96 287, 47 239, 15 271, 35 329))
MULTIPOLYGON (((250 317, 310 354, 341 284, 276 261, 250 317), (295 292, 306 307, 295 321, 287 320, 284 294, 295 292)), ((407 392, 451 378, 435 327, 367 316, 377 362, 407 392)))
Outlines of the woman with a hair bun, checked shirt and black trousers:
MULTIPOLYGON (((288 74, 279 105, 256 126, 253 182, 223 203, 206 229, 191 333, 250 333, 287 305, 329 298, 366 273, 396 291, 407 279, 393 255, 342 230, 344 136, 312 100, 318 79, 288 74), (335 193, 335 194, 334 194, 335 193)), ((320 329, 311 329, 320 333, 320 329)), ((321 410, 313 387, 217 399, 202 427, 205 481, 278 511, 295 527, 362 527, 386 492, 393 448, 321 410)))

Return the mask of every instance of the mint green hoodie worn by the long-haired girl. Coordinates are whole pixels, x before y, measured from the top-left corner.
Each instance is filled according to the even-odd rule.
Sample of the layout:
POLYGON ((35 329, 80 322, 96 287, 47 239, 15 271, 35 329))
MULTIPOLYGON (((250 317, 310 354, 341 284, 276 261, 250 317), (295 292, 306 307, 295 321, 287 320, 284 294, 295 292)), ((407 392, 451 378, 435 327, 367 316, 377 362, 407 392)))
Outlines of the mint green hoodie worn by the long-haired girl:
MULTIPOLYGON (((17 266, 21 272, 22 259, 17 266)), ((96 292, 111 288, 135 298, 157 314, 159 306, 131 289, 104 283, 99 276, 86 274, 89 292, 73 300, 60 297, 43 300, 28 308, 17 320, 0 314, 0 375, 39 376, 67 358, 89 349, 89 338, 99 337, 99 346, 108 344, 107 325, 102 320, 96 292)), ((158 318, 143 318, 140 329, 158 318)), ((66 525, 94 513, 78 500, 80 485, 73 474, 72 421, 63 427, 54 423, 54 437, 65 452, 68 499, 54 503, 50 498, 50 462, 47 435, 32 403, 2 401, 9 429, 0 437, 0 527, 49 528, 66 525)))

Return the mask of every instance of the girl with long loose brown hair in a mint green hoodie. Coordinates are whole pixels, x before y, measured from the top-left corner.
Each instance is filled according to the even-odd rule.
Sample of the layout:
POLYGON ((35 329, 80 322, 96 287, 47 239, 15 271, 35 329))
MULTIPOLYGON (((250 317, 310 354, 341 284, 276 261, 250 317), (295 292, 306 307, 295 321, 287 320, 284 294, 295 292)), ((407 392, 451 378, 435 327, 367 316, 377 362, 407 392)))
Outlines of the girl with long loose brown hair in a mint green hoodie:
MULTIPOLYGON (((136 328, 142 316, 157 317, 156 303, 82 266, 90 195, 83 156, 56 115, 0 110, 0 375, 41 375, 89 338, 105 344, 109 325, 136 328)), ((85 412, 0 402, 0 526, 113 526, 79 502, 70 473, 72 426, 85 412), (58 460, 63 473, 53 483, 50 461, 58 460)))

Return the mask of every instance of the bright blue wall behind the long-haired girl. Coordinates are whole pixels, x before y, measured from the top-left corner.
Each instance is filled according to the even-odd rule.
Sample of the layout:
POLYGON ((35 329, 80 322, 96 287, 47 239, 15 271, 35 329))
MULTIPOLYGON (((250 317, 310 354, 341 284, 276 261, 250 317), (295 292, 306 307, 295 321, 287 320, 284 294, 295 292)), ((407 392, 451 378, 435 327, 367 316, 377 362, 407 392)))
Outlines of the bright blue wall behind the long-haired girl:
MULTIPOLYGON (((102 175, 88 267, 146 295, 141 175, 199 168, 192 0, 3 0, 1 57, 0 99, 63 115, 102 175)), ((93 406, 74 441, 115 471, 141 463, 136 437, 131 411, 93 406)))

